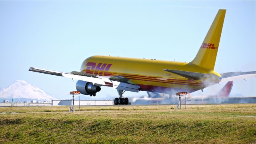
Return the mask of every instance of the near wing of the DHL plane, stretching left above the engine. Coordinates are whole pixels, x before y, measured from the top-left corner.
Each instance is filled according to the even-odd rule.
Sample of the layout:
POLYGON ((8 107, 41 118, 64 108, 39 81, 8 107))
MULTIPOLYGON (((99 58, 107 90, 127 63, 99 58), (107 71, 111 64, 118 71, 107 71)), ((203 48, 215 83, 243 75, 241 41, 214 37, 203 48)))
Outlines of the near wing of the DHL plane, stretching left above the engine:
POLYGON ((58 72, 54 70, 45 70, 40 68, 30 68, 29 71, 32 72, 40 72, 43 74, 51 74, 55 76, 63 76, 66 78, 72 78, 75 80, 83 80, 86 82, 92 82, 93 84, 100 84, 106 86, 112 86, 114 89, 117 90, 127 90, 131 92, 139 92, 139 86, 136 84, 128 83, 126 78, 122 77, 110 77, 110 76, 96 76, 94 74, 86 74, 85 72, 76 72, 72 71, 68 72, 58 72), (126 81, 126 82, 125 82, 126 81))

